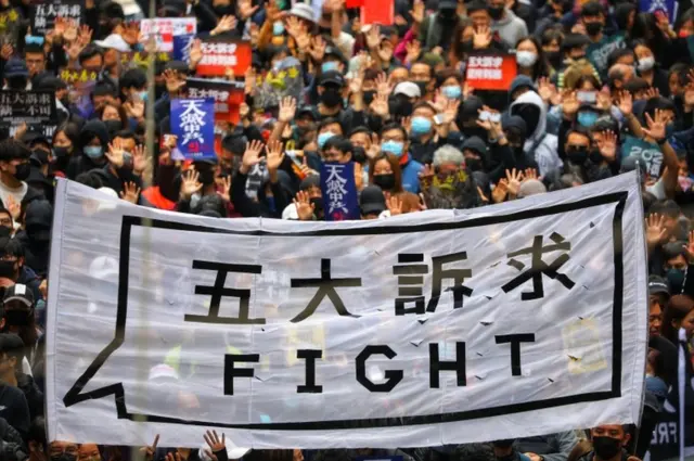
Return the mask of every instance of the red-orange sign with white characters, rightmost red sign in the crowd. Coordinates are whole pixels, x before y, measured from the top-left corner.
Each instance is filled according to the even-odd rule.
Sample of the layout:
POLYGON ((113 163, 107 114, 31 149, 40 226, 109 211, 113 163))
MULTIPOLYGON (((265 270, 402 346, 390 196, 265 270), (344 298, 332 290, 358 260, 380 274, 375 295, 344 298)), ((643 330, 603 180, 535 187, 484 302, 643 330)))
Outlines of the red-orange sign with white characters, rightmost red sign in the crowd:
POLYGON ((465 81, 475 90, 507 91, 516 71, 512 54, 473 54, 467 57, 465 81))

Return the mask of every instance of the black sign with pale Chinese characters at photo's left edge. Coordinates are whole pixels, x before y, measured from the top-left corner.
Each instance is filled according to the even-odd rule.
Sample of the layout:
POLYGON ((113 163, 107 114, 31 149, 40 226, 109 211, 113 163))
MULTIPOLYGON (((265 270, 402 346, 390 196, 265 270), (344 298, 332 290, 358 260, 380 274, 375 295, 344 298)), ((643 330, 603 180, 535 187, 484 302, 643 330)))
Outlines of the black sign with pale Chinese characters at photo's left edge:
POLYGON ((55 95, 51 91, 0 91, 0 126, 14 135, 22 123, 52 136, 57 123, 55 95))

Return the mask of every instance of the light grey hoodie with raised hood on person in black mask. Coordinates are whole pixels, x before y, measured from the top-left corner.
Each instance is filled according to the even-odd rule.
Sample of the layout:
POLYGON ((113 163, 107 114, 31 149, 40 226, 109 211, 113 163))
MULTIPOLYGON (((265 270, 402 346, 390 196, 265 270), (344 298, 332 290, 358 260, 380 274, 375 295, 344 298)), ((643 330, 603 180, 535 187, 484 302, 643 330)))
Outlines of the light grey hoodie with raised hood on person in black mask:
POLYGON ((547 108, 544 107, 542 98, 535 91, 523 93, 511 104, 510 111, 513 111, 513 107, 518 104, 532 104, 540 110, 538 126, 535 128, 535 131, 527 137, 523 150, 526 154, 532 155, 540 168, 540 176, 547 177, 549 174, 557 171, 564 166, 557 153, 558 141, 556 136, 547 132, 547 108))

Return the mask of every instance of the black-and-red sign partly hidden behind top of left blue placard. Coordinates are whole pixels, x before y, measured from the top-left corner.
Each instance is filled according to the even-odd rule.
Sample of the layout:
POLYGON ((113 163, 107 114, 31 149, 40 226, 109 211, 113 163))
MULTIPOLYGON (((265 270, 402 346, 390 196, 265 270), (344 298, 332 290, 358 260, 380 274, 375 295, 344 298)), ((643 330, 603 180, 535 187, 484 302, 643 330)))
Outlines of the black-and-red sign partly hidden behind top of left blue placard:
POLYGON ((185 80, 189 98, 215 100, 215 121, 237 124, 239 108, 244 102, 244 84, 221 79, 189 78, 185 80))

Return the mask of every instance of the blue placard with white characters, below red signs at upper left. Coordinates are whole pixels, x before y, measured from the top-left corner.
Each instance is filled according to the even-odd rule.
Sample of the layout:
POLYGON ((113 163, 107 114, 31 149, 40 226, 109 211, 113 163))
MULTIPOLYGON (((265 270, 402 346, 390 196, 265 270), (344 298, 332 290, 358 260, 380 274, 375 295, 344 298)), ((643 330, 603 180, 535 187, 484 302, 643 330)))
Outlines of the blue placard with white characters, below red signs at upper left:
POLYGON ((185 158, 216 158, 215 100, 171 100, 171 133, 185 158))

